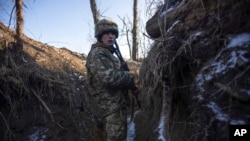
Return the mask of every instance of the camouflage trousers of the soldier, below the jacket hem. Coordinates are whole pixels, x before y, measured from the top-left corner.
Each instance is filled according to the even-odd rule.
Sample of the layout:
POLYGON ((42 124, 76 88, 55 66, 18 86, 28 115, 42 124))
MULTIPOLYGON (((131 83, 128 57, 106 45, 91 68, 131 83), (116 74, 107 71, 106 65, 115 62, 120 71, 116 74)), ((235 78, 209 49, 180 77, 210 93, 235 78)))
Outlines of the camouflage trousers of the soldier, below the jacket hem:
POLYGON ((106 117, 107 141, 127 141, 127 112, 119 110, 106 117))

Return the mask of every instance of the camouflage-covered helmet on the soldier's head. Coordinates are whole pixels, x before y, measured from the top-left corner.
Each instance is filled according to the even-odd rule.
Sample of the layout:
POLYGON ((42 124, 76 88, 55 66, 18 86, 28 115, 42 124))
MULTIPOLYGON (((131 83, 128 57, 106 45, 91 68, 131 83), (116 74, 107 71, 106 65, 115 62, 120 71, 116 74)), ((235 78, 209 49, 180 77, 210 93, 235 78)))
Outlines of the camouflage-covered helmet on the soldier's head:
POLYGON ((119 35, 118 26, 115 22, 109 19, 102 19, 95 25, 95 37, 100 37, 105 32, 111 31, 115 34, 116 38, 119 35))

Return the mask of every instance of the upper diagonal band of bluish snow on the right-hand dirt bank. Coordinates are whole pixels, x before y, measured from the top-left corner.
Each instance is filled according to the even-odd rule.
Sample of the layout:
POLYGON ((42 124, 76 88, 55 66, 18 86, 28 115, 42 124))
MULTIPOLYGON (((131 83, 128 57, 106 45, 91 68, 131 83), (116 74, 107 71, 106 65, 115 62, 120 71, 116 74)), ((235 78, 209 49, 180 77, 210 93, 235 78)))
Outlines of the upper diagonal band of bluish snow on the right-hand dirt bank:
MULTIPOLYGON (((242 48, 232 49, 237 46, 244 46, 250 44, 250 33, 242 33, 239 35, 231 36, 227 48, 222 49, 218 55, 209 63, 204 66, 196 76, 197 89, 204 92, 203 88, 205 83, 212 80, 214 76, 227 73, 230 69, 237 67, 240 61, 243 64, 249 63, 250 58, 247 58, 248 52, 242 48), (230 54, 228 54, 230 53, 230 54)), ((246 46, 249 47, 249 46, 246 46)), ((250 92, 247 92, 250 93, 250 92)))

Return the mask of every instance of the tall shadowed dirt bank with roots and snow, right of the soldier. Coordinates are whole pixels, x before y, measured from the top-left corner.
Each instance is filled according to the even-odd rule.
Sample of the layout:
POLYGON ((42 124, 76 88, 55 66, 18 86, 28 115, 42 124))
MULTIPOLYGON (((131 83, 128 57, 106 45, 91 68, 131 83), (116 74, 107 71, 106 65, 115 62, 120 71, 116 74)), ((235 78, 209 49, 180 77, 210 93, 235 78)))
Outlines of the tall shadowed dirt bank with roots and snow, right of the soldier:
POLYGON ((149 19, 136 140, 229 140, 229 125, 250 124, 249 7, 171 1, 149 19))

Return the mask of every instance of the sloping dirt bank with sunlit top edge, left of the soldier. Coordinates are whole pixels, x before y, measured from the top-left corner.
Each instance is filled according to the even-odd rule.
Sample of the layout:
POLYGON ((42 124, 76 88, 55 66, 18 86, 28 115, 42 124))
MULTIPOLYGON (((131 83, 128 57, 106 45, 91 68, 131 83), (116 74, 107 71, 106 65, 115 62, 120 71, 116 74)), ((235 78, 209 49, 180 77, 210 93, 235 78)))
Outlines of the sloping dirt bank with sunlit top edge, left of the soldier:
POLYGON ((0 23, 0 138, 102 140, 86 98, 85 55, 28 37, 16 53, 14 35, 0 23))

